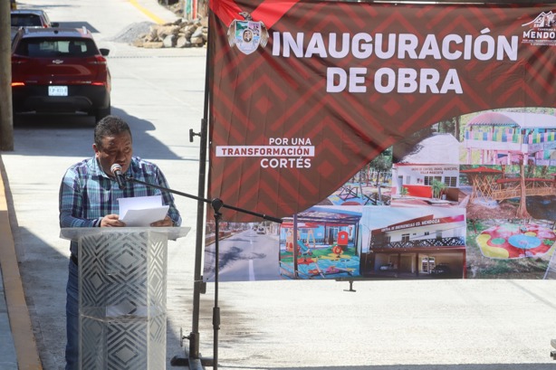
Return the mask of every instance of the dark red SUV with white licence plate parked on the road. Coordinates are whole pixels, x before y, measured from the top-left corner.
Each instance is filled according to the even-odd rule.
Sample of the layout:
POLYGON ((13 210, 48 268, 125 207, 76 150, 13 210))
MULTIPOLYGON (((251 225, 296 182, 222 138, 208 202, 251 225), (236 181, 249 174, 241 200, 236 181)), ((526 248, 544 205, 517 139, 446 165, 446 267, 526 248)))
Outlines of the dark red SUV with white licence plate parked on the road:
POLYGON ((86 28, 23 28, 12 43, 14 114, 110 114, 106 56, 86 28))

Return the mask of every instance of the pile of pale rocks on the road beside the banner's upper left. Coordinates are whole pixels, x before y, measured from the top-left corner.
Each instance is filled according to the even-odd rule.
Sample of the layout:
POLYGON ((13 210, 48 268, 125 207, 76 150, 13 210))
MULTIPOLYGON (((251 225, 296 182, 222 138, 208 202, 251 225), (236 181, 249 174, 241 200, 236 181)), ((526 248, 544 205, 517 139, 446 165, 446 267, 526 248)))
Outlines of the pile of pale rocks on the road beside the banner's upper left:
POLYGON ((190 48, 206 45, 208 19, 178 19, 169 24, 151 24, 148 33, 141 33, 131 44, 137 47, 190 48))

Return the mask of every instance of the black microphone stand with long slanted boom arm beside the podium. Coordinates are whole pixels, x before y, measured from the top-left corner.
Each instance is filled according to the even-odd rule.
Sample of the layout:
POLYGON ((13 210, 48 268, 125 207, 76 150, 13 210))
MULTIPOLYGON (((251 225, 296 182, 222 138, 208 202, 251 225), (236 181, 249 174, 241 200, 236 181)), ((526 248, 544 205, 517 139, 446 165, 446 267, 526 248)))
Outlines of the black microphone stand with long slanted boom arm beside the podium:
POLYGON ((163 192, 168 192, 168 193, 172 193, 172 194, 185 196, 185 197, 191 198, 191 199, 196 199, 199 202, 205 202, 206 204, 210 204, 213 208, 213 211, 215 213, 214 217, 215 217, 215 232, 216 232, 216 238, 215 238, 215 266, 216 267, 215 267, 215 307, 213 308, 214 341, 213 341, 213 364, 212 365, 213 365, 213 369, 217 370, 218 369, 218 330, 220 330, 220 308, 218 307, 218 270, 220 268, 220 261, 219 261, 219 252, 220 251, 219 251, 218 239, 219 239, 219 235, 220 235, 219 223, 220 223, 220 219, 222 218, 222 213, 220 213, 220 209, 221 208, 227 208, 227 209, 234 210, 236 212, 251 214, 251 215, 254 215, 256 217, 260 217, 264 220, 272 221, 273 223, 282 223, 282 219, 279 219, 279 218, 276 218, 276 217, 273 217, 273 216, 269 216, 269 215, 263 214, 263 213, 256 213, 256 212, 253 212, 253 211, 245 210, 243 208, 238 208, 238 207, 235 207, 233 205, 228 205, 228 204, 225 204, 219 198, 206 199, 206 198, 202 198, 202 197, 197 196, 197 195, 178 192, 177 190, 169 189, 168 187, 164 187, 164 186, 160 186, 160 185, 154 185, 154 184, 150 184, 150 183, 147 183, 145 181, 142 181, 142 180, 138 180, 137 178, 134 178, 133 176, 124 176, 124 178, 127 182, 133 182, 133 183, 138 183, 138 184, 142 184, 142 185, 147 185, 149 187, 153 187, 153 188, 161 190, 163 192))

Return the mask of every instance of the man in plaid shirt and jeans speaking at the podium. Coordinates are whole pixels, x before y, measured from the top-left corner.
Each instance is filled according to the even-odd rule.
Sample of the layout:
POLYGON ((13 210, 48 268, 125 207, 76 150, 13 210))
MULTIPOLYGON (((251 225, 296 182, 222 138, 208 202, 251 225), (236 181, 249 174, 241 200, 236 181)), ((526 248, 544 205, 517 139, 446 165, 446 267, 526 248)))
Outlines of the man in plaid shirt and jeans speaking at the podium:
MULTIPOLYGON (((181 217, 168 192, 134 182, 120 189, 110 168, 121 166, 124 176, 132 176, 148 184, 168 187, 158 166, 133 157, 131 131, 128 124, 115 116, 101 119, 94 129, 92 144, 94 157, 71 166, 60 186, 60 227, 123 227, 118 215, 118 198, 162 195, 163 204, 169 205, 163 220, 151 223, 155 227, 179 226, 181 217)), ((79 292, 77 242, 70 245, 68 284, 66 288, 66 370, 79 368, 79 292)))

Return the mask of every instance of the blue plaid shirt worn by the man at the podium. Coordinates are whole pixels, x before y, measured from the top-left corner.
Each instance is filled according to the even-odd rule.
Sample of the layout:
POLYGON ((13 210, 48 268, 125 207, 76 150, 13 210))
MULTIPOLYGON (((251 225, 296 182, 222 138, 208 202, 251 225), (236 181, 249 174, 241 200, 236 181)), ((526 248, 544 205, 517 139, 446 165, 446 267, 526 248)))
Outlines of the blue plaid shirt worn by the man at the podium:
MULTIPOLYGON (((139 157, 131 158, 124 176, 168 187, 158 166, 139 157)), ((119 198, 149 195, 162 195, 162 203, 169 205, 168 216, 175 226, 181 224, 181 216, 171 193, 134 182, 128 182, 125 189, 120 189, 116 179, 104 173, 96 157, 84 159, 68 168, 62 178, 60 227, 100 227, 102 217, 119 213, 119 198)), ((71 249, 75 253, 77 250, 73 244, 71 249)))

